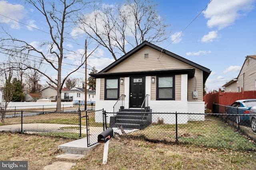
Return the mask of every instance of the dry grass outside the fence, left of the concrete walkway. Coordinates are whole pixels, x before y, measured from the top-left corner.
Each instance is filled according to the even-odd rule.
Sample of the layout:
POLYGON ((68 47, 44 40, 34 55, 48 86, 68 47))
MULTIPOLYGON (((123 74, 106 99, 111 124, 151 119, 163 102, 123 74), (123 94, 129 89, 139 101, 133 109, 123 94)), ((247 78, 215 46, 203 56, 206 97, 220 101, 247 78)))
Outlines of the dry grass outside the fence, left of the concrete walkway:
POLYGON ((0 160, 28 161, 30 170, 42 170, 56 161, 58 145, 70 139, 0 133, 0 160))

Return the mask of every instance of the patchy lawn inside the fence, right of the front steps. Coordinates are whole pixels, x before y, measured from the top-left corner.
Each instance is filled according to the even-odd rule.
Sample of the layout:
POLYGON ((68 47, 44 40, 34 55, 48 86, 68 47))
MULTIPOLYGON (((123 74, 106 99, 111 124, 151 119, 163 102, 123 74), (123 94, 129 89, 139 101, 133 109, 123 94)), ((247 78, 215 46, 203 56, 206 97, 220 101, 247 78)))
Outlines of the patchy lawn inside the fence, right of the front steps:
MULTIPOLYGON (((177 128, 178 142, 186 145, 241 151, 256 149, 253 140, 249 140, 246 135, 242 135, 218 117, 206 116, 205 121, 188 121, 186 124, 178 124, 177 128)), ((176 125, 170 124, 150 125, 131 133, 130 136, 145 138, 148 141, 177 142, 176 125)))

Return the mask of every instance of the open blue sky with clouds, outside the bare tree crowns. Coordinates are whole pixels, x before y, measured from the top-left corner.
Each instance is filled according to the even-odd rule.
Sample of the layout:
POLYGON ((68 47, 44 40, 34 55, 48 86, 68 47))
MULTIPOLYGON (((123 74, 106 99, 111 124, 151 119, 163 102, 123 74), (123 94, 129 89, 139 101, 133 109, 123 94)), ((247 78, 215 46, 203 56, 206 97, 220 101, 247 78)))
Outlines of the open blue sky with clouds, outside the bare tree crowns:
MULTIPOLYGON (((122 1, 103 2, 114 4, 122 1)), ((171 25, 168 30, 170 31, 168 40, 157 45, 212 70, 206 81, 207 92, 218 90, 226 82, 236 78, 245 57, 256 55, 256 0, 212 0, 211 2, 210 0, 155 0, 154 2, 158 4, 156 8, 160 17, 166 24, 171 25)), ((0 0, 0 15, 9 17, 0 16, 0 25, 14 37, 34 45, 45 40, 46 33, 43 31, 47 29, 44 27, 44 20, 32 6, 20 0, 0 0)), ((82 53, 84 38, 81 36, 77 42, 78 45, 72 43, 68 45, 74 51, 82 53)), ((97 54, 100 57, 88 59, 88 64, 95 66, 98 71, 114 61, 103 48, 99 48, 97 54)), ((4 58, 4 55, 0 54, 1 61, 4 58)), ((67 59, 66 63, 71 62, 74 61, 67 59)), ((64 71, 65 68, 70 68, 68 64, 63 67, 64 71)), ((84 76, 83 72, 81 69, 74 76, 84 76)))

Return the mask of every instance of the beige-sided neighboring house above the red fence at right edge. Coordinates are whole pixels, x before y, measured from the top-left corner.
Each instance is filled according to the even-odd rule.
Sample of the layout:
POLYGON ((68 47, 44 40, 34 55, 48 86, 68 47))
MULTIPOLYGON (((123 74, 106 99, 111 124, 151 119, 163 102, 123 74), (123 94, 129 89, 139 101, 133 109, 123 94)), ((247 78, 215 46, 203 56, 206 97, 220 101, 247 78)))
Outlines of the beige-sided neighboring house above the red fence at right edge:
POLYGON ((226 92, 241 92, 256 90, 256 55, 248 55, 238 74, 237 78, 226 82, 224 87, 226 92))

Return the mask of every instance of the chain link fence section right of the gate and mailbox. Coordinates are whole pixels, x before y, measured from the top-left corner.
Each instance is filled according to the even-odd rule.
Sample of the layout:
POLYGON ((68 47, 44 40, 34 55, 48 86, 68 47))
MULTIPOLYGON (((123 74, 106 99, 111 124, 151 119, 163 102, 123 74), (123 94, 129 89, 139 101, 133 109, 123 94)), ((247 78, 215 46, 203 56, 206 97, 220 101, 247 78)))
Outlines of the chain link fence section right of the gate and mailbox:
POLYGON ((248 126, 239 128, 234 122, 227 123, 220 113, 117 113, 110 117, 110 127, 121 136, 151 142, 229 150, 256 149, 256 133, 248 126), (150 117, 150 122, 146 116, 150 117))

